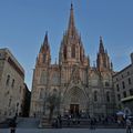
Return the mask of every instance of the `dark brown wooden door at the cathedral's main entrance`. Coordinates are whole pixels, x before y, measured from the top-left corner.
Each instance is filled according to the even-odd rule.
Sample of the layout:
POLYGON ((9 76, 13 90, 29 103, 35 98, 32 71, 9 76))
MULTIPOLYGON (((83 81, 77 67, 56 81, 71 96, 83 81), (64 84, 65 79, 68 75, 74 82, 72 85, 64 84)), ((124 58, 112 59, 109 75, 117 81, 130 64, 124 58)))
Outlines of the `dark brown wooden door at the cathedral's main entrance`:
POLYGON ((79 104, 70 104, 70 114, 73 116, 79 115, 79 104))

